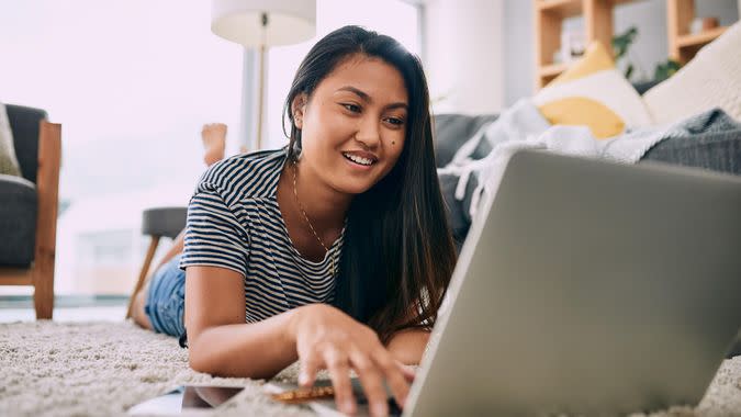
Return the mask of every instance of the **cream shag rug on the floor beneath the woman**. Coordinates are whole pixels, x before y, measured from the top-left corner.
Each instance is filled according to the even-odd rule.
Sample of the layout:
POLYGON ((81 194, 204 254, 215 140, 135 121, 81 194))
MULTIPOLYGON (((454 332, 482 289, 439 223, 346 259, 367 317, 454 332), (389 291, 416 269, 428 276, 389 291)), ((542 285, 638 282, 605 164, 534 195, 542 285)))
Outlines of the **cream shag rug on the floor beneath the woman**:
MULTIPOLYGON (((295 381, 296 374, 293 364, 278 379, 295 381)), ((175 338, 132 322, 0 324, 0 416, 120 416, 184 383, 246 386, 220 416, 314 415, 271 401, 261 381, 193 372, 175 338)), ((723 362, 695 409, 652 416, 741 416, 741 357, 723 362)))

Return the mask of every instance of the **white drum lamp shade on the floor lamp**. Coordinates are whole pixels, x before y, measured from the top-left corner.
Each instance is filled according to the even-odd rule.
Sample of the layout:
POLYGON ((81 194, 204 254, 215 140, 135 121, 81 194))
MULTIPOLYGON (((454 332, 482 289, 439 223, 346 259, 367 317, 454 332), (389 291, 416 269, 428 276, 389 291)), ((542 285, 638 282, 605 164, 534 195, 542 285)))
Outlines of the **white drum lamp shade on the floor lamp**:
POLYGON ((316 34, 316 0, 212 0, 211 32, 248 47, 308 41, 316 34))

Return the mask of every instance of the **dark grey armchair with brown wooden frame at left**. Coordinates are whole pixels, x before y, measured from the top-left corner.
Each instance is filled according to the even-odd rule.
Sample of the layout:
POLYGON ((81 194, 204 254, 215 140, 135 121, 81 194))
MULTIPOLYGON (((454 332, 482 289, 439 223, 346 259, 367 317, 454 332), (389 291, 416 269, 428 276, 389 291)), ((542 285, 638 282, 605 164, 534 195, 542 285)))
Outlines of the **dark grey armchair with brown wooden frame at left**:
POLYGON ((61 125, 7 105, 21 177, 0 174, 0 285, 34 286, 36 318, 54 312, 61 125))

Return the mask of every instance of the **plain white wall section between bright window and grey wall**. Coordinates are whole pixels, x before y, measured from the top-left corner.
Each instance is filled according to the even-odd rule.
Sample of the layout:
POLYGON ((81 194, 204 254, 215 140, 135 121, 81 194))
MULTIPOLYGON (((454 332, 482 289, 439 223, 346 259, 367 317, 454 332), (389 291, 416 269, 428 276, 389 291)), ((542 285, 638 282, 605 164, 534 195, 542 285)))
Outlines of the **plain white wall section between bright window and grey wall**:
POLYGON ((504 103, 503 0, 425 1, 425 69, 435 113, 496 113, 504 103))

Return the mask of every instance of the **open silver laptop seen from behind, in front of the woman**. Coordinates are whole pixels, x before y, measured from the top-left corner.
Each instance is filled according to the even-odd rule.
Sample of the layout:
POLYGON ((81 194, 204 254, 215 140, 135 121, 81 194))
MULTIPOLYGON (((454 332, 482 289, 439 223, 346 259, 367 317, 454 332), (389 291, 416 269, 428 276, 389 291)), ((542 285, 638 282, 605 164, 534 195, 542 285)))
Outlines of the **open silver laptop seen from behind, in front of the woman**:
POLYGON ((524 150, 480 213, 405 416, 700 401, 741 326, 741 180, 524 150))

